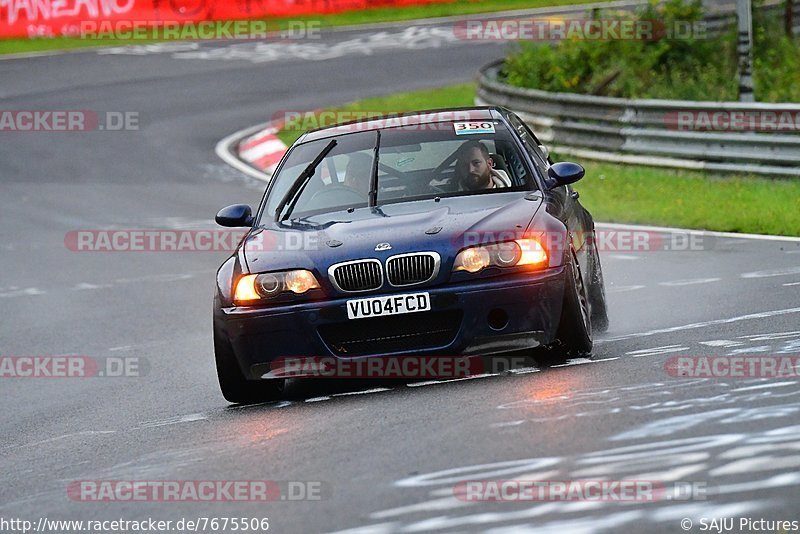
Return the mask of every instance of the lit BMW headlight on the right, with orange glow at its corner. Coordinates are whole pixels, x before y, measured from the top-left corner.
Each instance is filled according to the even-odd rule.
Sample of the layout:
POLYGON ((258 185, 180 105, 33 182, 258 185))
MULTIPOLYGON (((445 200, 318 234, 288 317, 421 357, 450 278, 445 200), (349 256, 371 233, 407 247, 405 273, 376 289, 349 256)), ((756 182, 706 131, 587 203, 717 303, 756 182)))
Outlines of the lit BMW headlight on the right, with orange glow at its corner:
POLYGON ((535 239, 517 239, 492 245, 465 248, 456 256, 453 271, 477 273, 486 267, 542 267, 547 263, 547 252, 535 239))

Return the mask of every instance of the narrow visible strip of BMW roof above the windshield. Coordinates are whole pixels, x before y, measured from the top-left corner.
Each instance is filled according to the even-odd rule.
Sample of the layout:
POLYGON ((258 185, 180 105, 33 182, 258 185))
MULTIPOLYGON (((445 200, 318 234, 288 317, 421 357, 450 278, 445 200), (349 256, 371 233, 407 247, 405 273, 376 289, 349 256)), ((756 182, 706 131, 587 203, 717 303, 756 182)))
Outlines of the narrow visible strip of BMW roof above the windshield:
POLYGON ((435 124, 439 122, 481 121, 502 119, 505 109, 499 106, 475 106, 463 108, 441 108, 410 113, 386 114, 382 117, 344 122, 335 126, 319 128, 304 133, 295 144, 336 137, 354 131, 368 132, 393 128, 404 124, 435 124), (358 125, 357 130, 353 126, 358 125))

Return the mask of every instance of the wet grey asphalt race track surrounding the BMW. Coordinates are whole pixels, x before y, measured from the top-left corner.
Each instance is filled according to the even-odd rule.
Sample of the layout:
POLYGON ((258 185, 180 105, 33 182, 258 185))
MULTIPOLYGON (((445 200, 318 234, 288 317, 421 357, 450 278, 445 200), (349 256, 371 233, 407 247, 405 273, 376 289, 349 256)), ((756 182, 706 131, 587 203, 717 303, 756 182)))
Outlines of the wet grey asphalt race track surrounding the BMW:
POLYGON ((139 378, 0 379, 0 516, 269 517, 274 532, 378 533, 681 532, 683 518, 693 531, 702 518, 800 519, 796 379, 677 379, 664 367, 677 354, 799 355, 798 242, 716 237, 703 250, 607 252, 612 326, 591 361, 359 395, 337 396, 381 384, 317 384, 301 391, 311 399, 253 407, 228 406, 216 385, 211 290, 225 254, 65 247, 79 229, 211 228, 219 207, 256 204, 263 190, 214 155, 225 135, 281 110, 467 81, 503 53, 386 31, 305 48, 0 61, 3 109, 135 111, 140 122, 128 132, 0 133, 0 354, 137 357, 149 367, 139 378), (459 480, 483 478, 682 481, 707 495, 453 497, 459 480), (76 480, 197 479, 314 481, 323 498, 67 495, 76 480))

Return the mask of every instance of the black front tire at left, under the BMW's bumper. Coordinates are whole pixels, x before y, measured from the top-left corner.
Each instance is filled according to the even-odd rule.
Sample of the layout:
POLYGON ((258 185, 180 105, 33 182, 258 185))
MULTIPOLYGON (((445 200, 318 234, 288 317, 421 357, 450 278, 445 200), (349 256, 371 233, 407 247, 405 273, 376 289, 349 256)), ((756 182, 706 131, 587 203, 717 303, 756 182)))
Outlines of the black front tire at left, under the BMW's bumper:
POLYGON ((214 359, 217 362, 219 388, 225 400, 234 404, 256 404, 278 400, 283 395, 284 380, 247 380, 239 369, 230 344, 214 332, 214 359))

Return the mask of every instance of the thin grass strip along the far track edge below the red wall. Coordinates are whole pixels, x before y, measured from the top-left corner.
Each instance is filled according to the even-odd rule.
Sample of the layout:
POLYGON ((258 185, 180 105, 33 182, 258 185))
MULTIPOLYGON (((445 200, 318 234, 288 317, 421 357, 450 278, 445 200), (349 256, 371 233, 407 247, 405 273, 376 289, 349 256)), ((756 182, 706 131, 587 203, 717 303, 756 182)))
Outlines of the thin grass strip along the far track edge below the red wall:
MULTIPOLYGON (((428 4, 409 7, 380 7, 360 11, 344 11, 328 15, 308 15, 301 17, 281 17, 263 19, 269 21, 269 27, 285 29, 292 21, 319 22, 321 28, 350 26, 357 24, 374 24, 379 22, 400 22, 421 18, 447 17, 453 15, 470 15, 491 13, 512 9, 530 9, 547 6, 560 6, 588 3, 592 0, 454 0, 440 4, 428 4)), ((132 44, 149 44, 162 39, 80 39, 77 37, 55 37, 36 39, 0 39, 0 54, 18 54, 26 52, 43 52, 49 50, 66 50, 97 46, 122 46, 132 44)))

